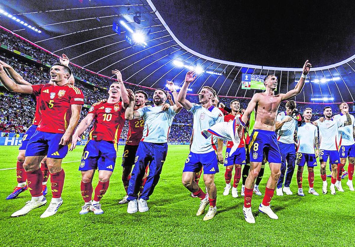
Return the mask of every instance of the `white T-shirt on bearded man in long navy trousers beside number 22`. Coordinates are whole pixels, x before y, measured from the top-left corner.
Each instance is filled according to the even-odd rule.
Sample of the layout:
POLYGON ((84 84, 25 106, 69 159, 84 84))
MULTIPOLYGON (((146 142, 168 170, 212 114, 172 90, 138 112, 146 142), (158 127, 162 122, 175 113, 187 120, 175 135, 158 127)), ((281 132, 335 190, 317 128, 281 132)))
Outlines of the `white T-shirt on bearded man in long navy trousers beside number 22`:
POLYGON ((162 111, 163 106, 144 106, 137 112, 144 119, 143 142, 165 143, 168 142, 170 126, 173 124, 176 112, 173 106, 162 111))

